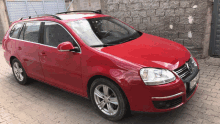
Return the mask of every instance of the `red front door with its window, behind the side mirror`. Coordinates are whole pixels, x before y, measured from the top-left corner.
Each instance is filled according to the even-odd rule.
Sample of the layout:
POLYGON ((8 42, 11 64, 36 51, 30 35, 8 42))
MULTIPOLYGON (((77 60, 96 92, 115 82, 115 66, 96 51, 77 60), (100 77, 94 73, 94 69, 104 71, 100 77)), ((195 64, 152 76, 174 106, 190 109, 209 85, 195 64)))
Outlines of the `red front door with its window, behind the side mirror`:
POLYGON ((45 80, 62 89, 82 91, 81 53, 60 52, 57 46, 70 41, 77 46, 73 37, 60 24, 46 21, 44 24, 44 45, 40 46, 40 61, 45 80))

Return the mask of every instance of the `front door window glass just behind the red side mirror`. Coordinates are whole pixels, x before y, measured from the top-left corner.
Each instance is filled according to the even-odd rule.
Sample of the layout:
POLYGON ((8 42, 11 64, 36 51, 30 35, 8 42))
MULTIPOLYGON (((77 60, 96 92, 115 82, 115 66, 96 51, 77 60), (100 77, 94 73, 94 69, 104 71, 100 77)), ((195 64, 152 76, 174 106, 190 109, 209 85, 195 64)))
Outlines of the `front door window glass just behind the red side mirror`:
POLYGON ((57 47, 60 43, 70 41, 77 46, 70 34, 61 25, 55 22, 45 22, 44 44, 57 47))

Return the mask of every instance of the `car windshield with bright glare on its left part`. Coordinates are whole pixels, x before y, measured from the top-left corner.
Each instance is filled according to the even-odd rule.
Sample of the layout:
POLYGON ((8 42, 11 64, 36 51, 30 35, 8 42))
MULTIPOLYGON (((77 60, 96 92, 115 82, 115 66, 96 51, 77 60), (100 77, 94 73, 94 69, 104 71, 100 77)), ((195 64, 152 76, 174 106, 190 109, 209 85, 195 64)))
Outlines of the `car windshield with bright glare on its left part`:
POLYGON ((89 46, 110 46, 140 37, 140 33, 111 17, 83 19, 67 23, 89 46))

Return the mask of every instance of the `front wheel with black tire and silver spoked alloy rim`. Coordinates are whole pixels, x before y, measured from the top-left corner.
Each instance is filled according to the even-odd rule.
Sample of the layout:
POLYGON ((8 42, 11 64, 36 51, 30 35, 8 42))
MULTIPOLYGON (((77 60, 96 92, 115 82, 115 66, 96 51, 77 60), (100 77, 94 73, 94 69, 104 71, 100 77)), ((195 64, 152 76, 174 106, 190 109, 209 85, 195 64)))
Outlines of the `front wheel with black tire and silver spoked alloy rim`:
POLYGON ((128 111, 125 95, 114 82, 108 79, 98 78, 93 81, 90 98, 98 114, 110 121, 121 120, 128 111))

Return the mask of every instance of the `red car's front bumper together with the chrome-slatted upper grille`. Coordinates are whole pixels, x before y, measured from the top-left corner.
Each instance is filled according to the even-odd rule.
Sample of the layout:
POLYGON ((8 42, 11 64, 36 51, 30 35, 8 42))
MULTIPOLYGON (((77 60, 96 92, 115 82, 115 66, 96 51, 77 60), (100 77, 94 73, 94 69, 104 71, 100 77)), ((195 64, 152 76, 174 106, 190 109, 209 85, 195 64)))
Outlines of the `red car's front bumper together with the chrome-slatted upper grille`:
POLYGON ((176 80, 171 83, 146 86, 142 80, 136 80, 125 92, 131 111, 167 112, 185 104, 195 94, 199 83, 198 62, 195 65, 192 59, 196 61, 190 58, 173 70, 176 80))

